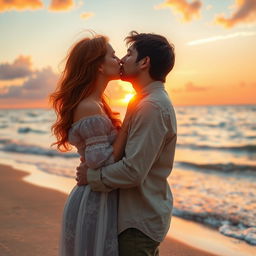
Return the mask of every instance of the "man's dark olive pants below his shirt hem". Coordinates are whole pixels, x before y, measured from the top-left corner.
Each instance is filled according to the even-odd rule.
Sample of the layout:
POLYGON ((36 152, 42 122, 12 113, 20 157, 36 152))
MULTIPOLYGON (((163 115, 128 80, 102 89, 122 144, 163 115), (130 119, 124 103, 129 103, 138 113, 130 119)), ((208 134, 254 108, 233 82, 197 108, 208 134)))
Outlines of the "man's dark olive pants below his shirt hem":
POLYGON ((136 228, 118 236, 119 256, 159 256, 159 244, 136 228))

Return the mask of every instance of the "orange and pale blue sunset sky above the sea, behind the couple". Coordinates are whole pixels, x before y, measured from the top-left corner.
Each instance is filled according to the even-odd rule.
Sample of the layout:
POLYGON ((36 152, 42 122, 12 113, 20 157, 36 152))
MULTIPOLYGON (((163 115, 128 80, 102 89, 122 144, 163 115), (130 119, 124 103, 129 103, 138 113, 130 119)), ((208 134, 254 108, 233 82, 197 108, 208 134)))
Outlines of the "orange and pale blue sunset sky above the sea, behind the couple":
MULTIPOLYGON (((0 108, 49 106, 61 60, 85 29, 107 35, 120 58, 131 30, 166 36, 175 105, 256 104, 255 0, 0 0, 0 108)), ((121 81, 107 89, 116 106, 132 93, 121 81)))

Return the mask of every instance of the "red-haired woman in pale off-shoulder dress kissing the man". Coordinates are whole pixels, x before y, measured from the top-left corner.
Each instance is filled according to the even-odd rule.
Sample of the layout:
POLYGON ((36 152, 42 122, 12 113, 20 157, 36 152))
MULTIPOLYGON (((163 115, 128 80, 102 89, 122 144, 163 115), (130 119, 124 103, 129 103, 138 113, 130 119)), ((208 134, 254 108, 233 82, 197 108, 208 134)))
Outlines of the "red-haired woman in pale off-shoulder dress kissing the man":
MULTIPOLYGON (((85 164, 99 168, 123 155, 126 130, 104 98, 119 79, 120 61, 104 36, 84 38, 67 56, 58 88, 51 95, 57 121, 52 130, 61 151, 74 145, 85 164)), ((118 191, 100 193, 75 186, 64 208, 61 256, 115 256, 118 191)))

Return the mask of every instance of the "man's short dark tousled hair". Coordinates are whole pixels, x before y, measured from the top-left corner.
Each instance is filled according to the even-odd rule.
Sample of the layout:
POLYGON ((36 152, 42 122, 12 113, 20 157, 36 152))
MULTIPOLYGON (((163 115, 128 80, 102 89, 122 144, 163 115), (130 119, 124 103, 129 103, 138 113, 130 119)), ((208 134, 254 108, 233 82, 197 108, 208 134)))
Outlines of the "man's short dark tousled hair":
POLYGON ((145 57, 150 58, 149 74, 154 80, 165 82, 167 74, 175 62, 174 45, 163 36, 156 34, 130 32, 125 38, 127 44, 138 52, 137 62, 145 57))

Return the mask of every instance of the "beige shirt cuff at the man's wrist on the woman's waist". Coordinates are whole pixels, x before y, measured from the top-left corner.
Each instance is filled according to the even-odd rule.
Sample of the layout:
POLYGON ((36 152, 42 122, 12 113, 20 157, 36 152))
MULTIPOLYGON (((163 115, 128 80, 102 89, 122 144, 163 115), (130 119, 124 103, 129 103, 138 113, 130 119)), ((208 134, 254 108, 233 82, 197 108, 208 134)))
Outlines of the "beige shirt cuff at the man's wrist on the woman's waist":
POLYGON ((110 192, 112 188, 106 186, 101 181, 101 170, 93 170, 88 168, 87 170, 87 181, 90 184, 93 191, 110 192))

